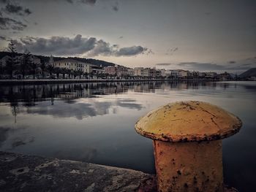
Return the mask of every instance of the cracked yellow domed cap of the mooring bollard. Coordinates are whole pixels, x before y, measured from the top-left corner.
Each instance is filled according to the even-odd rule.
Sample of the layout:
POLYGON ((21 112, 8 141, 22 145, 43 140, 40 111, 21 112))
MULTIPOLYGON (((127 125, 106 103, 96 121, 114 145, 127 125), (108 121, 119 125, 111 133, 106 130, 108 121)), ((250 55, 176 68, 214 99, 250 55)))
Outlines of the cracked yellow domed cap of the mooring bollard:
POLYGON ((178 101, 148 112, 135 124, 138 134, 166 142, 200 142, 236 134, 235 115, 202 101, 178 101))

